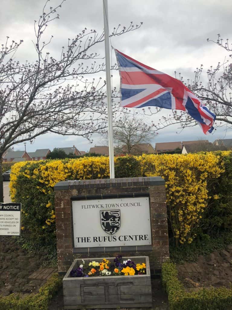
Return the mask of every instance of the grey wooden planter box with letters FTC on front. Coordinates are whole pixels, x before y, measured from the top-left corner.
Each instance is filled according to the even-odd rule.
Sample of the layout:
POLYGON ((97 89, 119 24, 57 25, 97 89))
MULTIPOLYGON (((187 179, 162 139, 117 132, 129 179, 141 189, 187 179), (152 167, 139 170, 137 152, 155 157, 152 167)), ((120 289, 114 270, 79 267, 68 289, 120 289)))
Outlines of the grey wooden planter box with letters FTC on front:
MULTIPOLYGON (((70 277, 81 259, 75 259, 63 278, 64 309, 151 307, 152 290, 148 256, 130 257, 135 263, 146 263, 145 275, 70 277)), ((103 258, 85 258, 85 264, 103 258)), ((107 257, 111 262, 114 258, 107 257)))

